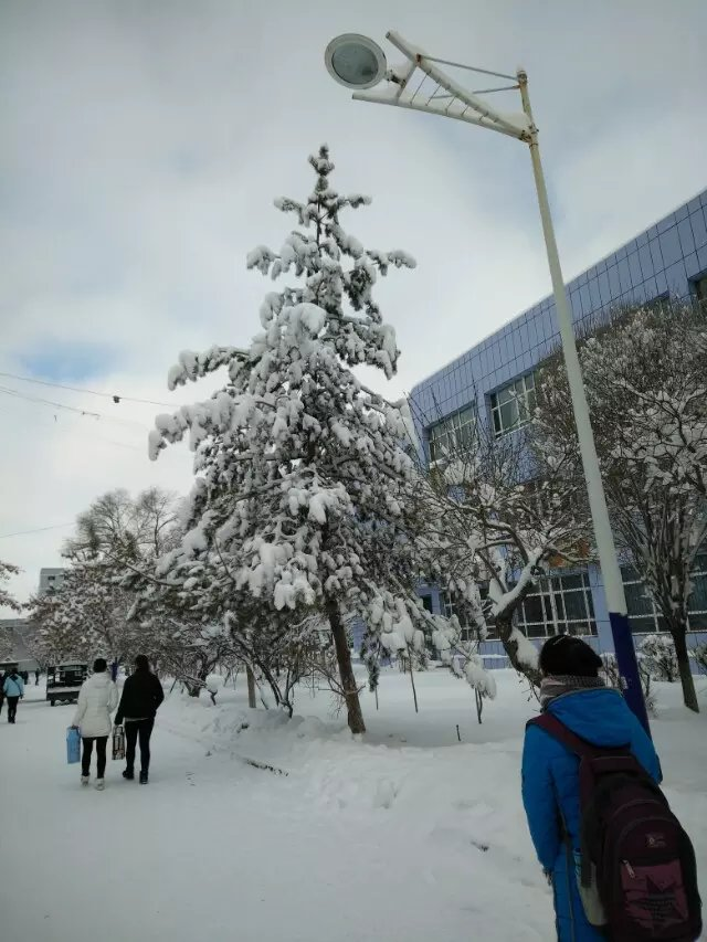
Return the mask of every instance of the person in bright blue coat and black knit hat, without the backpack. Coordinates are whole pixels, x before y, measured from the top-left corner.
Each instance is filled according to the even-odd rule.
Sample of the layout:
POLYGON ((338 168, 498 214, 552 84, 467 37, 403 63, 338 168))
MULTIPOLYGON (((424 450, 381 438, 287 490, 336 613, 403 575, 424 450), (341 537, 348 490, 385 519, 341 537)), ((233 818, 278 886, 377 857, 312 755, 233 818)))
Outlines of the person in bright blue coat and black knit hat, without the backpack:
MULTIPOLYGON (((540 652, 540 705, 594 745, 629 745, 646 772, 661 782, 650 737, 618 690, 599 677, 602 661, 581 638, 551 637, 540 652)), ((581 838, 579 759, 537 726, 526 730, 523 804, 540 866, 552 887, 559 942, 600 942, 582 908, 576 856, 581 838)))

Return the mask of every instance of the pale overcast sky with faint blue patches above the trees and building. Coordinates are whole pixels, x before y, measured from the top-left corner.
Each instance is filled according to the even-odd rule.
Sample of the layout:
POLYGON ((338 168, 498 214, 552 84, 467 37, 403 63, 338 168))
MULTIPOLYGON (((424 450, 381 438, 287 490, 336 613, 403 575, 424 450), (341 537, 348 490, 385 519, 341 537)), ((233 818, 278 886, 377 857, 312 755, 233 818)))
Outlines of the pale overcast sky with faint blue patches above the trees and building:
MULTIPOLYGON (((330 38, 387 46, 389 29, 527 68, 568 278, 707 186, 704 0, 2 0, 0 372, 207 395, 169 393, 167 370, 257 330, 268 285, 245 254, 279 247, 291 222, 273 199, 310 191, 321 141, 334 184, 373 197, 348 229, 418 260, 379 292, 403 354, 391 395, 548 294, 527 148, 352 103, 328 77, 330 38)), ((186 446, 147 458, 162 408, 0 388, 101 413, 0 391, 0 558, 22 567, 20 597, 61 564, 57 525, 98 495, 189 488, 186 446), (56 529, 4 536, 41 527, 56 529)))

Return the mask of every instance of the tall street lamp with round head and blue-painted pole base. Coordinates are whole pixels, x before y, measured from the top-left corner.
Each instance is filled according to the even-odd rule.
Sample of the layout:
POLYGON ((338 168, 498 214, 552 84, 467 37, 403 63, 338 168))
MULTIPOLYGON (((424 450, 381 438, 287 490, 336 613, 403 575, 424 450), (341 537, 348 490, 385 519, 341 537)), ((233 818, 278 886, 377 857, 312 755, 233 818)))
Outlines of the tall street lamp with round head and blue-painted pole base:
POLYGON ((354 94, 356 100, 371 102, 378 105, 392 105, 398 108, 410 108, 412 110, 454 118, 466 124, 495 130, 507 137, 514 137, 529 146, 540 208, 540 219, 542 221, 542 233, 545 235, 548 264, 552 278, 555 306, 557 308, 560 337, 562 338, 562 352, 567 367, 572 412, 574 413, 574 422, 577 424, 577 435, 582 456, 584 478, 587 480, 587 491, 594 527, 597 550, 599 552, 599 562, 606 593, 609 620, 614 639, 616 661, 619 664, 626 702, 650 733, 648 717, 639 676, 639 664, 626 614, 626 599, 623 591, 621 569, 619 568, 616 547, 609 521, 606 496, 601 479, 597 446, 589 419, 589 405, 587 403, 587 393, 577 353, 572 316, 562 279, 560 256, 557 251, 550 204, 545 186, 542 165, 540 163, 538 129, 532 119, 530 98, 528 96, 528 76, 521 68, 518 70, 516 75, 506 75, 502 72, 489 72, 486 68, 476 68, 458 62, 437 59, 411 45, 395 32, 387 33, 387 39, 405 56, 407 62, 403 66, 389 70, 386 64, 383 51, 372 40, 359 36, 356 33, 338 36, 327 46, 325 60, 329 73, 341 85, 358 89, 354 94), (443 72, 439 67, 440 65, 465 68, 468 72, 487 75, 495 80, 510 82, 511 84, 469 92, 443 72), (424 73, 422 82, 428 76, 435 83, 435 89, 432 95, 425 94, 419 96, 422 82, 418 85, 413 94, 407 93, 410 80, 418 70, 424 73), (376 94, 366 91, 372 88, 382 78, 387 78, 391 83, 392 87, 388 93, 376 94), (505 114, 492 107, 479 97, 483 94, 507 91, 520 92, 523 115, 505 114))

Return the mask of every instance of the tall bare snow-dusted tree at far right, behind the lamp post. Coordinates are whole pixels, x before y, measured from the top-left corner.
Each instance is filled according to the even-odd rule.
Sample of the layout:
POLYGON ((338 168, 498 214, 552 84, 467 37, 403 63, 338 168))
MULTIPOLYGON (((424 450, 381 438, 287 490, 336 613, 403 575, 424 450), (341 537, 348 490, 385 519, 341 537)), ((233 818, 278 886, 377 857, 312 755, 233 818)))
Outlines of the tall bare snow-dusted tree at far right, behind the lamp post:
MULTIPOLYGON (((698 711, 687 647, 695 558, 707 538, 707 313, 666 303, 614 311, 580 345, 616 536, 673 637, 685 705, 698 711)), ((545 366, 538 441, 573 447, 564 367, 545 366)))

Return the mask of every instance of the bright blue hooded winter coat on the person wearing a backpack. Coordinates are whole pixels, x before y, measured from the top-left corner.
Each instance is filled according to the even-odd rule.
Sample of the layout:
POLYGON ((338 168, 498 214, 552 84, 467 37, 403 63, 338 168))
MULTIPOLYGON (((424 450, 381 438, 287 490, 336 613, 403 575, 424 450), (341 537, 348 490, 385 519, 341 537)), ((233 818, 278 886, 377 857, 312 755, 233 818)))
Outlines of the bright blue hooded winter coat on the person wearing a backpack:
MULTIPOLYGON (((661 764, 645 730, 616 690, 587 689, 550 701, 548 712, 595 745, 631 745, 659 782, 661 764)), ((579 759, 538 727, 526 730, 523 803, 538 859, 552 876, 559 942, 600 942, 579 898, 571 851, 560 834, 564 822, 572 848, 580 848, 579 759)))

